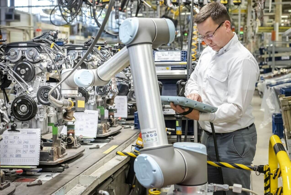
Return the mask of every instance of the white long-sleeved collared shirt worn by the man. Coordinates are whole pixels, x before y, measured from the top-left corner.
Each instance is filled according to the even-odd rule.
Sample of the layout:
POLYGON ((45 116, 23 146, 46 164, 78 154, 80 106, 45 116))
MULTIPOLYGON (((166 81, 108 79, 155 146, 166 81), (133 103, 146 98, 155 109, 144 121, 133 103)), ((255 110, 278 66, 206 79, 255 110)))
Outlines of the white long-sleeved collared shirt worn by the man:
POLYGON ((218 107, 215 113, 200 112, 200 126, 212 132, 210 121, 215 132, 228 133, 254 123, 251 100, 259 72, 257 61, 235 33, 218 52, 205 48, 185 88, 185 96, 198 93, 203 103, 218 107))

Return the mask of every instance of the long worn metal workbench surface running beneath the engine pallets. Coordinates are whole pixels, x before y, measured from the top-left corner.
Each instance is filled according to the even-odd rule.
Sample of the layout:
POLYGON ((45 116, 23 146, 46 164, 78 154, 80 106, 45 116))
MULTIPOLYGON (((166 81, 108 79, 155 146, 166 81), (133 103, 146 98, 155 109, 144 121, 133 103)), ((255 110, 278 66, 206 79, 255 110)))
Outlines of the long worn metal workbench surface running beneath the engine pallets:
MULTIPOLYGON (((120 130, 118 134, 113 135, 113 140, 111 140, 109 143, 103 144, 101 148, 90 150, 88 147, 86 147, 84 153, 82 153, 81 155, 74 159, 65 162, 69 165, 68 169, 65 169, 65 171, 57 174, 48 181, 42 181, 43 182, 42 185, 26 187, 27 183, 14 183, 16 185, 16 190, 14 194, 15 195, 65 194, 67 193, 65 191, 69 190, 65 189, 64 186, 66 184, 70 182, 72 183, 72 181, 76 180, 78 176, 79 178, 80 176, 84 178, 87 177, 87 175, 88 182, 90 182, 90 185, 92 186, 92 183, 94 183, 94 180, 96 180, 97 178, 93 173, 97 171, 97 169, 99 169, 101 166, 106 164, 109 160, 116 158, 115 154, 116 151, 122 151, 125 148, 131 146, 132 142, 134 142, 137 139, 138 134, 139 134, 138 130, 123 128, 122 130, 120 130)), ((94 143, 93 145, 96 144, 100 143, 94 143)), ((102 145, 102 143, 100 145, 102 145)), ((119 161, 121 160, 119 159, 119 161)), ((97 185, 96 182, 95 185, 97 185)))

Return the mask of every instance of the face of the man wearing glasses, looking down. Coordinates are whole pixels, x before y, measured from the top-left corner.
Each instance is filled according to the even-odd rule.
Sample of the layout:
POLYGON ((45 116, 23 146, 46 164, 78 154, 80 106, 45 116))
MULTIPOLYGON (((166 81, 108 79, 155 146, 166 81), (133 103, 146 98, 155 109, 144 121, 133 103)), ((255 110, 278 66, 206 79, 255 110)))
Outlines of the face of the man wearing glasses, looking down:
MULTIPOLYGON (((207 36, 213 34, 215 29, 219 26, 216 24, 211 17, 207 18, 204 22, 197 24, 197 29, 199 32, 199 36, 207 36)), ((224 47, 225 39, 227 35, 227 29, 224 23, 215 31, 214 38, 209 40, 207 38, 204 39, 204 42, 211 47, 214 51, 219 51, 222 47, 224 47)))

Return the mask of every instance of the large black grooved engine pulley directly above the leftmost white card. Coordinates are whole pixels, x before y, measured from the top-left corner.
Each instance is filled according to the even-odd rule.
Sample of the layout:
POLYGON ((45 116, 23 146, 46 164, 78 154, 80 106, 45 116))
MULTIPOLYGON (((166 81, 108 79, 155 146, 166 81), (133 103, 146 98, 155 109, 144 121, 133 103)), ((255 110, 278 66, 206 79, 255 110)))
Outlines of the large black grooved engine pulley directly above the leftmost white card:
POLYGON ((20 121, 31 120, 36 115, 36 102, 27 95, 16 97, 11 105, 12 115, 20 121))

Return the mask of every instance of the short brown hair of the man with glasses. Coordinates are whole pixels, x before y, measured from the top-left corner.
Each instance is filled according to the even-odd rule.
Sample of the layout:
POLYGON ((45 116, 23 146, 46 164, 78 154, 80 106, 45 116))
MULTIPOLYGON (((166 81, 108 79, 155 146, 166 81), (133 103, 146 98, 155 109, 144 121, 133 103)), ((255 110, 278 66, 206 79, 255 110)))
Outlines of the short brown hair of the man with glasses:
POLYGON ((226 7, 223 4, 217 2, 209 3, 201 8, 194 19, 194 23, 200 24, 209 17, 211 17, 216 24, 221 24, 226 20, 231 22, 226 7))

